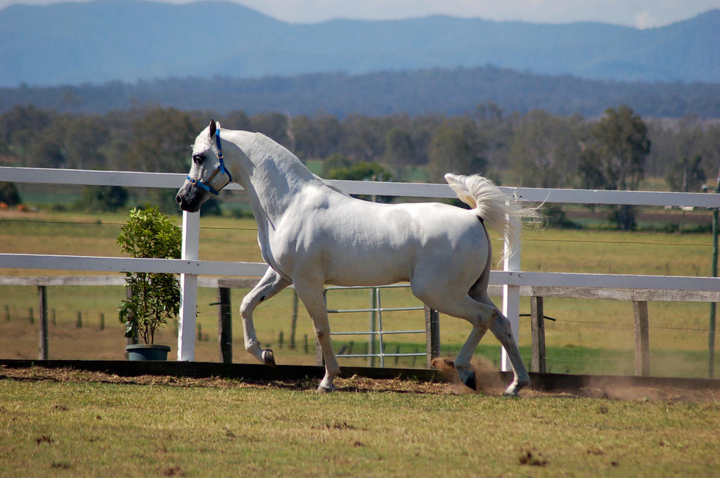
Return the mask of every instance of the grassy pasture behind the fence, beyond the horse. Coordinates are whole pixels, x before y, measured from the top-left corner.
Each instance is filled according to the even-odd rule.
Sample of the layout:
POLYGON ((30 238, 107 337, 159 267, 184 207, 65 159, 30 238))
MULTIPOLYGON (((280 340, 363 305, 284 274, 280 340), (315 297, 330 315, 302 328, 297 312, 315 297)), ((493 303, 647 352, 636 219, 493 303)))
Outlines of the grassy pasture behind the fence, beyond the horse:
MULTIPOLYGON (((4 213, 0 216, 0 251, 6 253, 57 253, 87 256, 119 256, 116 243, 125 214, 94 215, 76 212, 4 213)), ((176 218, 179 222, 179 217, 176 218)), ((200 258, 209 260, 261 261, 252 219, 203 217, 200 258)), ((611 274, 660 274, 706 276, 710 274, 709 234, 619 233, 611 230, 554 230, 528 228, 523 233, 522 269, 611 274)), ((492 235, 496 255, 502 241, 492 235)), ((0 275, 53 275, 63 271, 2 270, 0 275)), ((70 272, 69 274, 78 274, 70 272)), ((82 273, 80 273, 82 274, 82 273)), ((95 274, 95 273, 86 273, 95 274)), ((247 291, 232 293, 234 360, 250 361, 243 350, 238 306, 247 291)), ((117 305, 122 287, 50 287, 48 303, 55 321, 50 325, 51 358, 122 358, 122 326, 117 323, 117 305), (82 327, 78 327, 78 313, 82 327), (100 330, 104 316, 104 330, 100 330)), ((500 305, 500 298, 495 298, 500 305)), ((217 361, 217 291, 200 289, 197 322, 198 360, 217 361)), ((369 307, 369 291, 330 292, 332 309, 369 307)), ((384 290, 384 307, 418 306, 407 289, 384 290)), ((2 287, 0 292, 0 356, 37 357, 37 325, 30 325, 30 308, 37 317, 37 289, 2 287)), ((708 305, 690 302, 651 302, 651 374, 657 376, 707 376, 708 305)), ((529 300, 522 299, 521 313, 529 313, 529 300)), ((293 293, 287 290, 258 307, 255 314, 258 338, 276 351, 284 364, 315 362, 314 338, 309 317, 302 306, 297 319, 295 348, 289 348, 293 293), (307 335, 307 352, 305 336, 307 335), (282 338, 281 338, 282 337, 282 338)), ((633 319, 629 302, 589 299, 546 299, 545 314, 557 319, 546 322, 549 371, 593 374, 631 374, 633 371, 633 319)), ((420 330, 423 313, 385 312, 385 330, 420 330)), ((369 314, 332 315, 333 331, 368 330, 369 314)), ((176 348, 173 327, 163 329, 158 339, 176 348)), ((469 325, 453 317, 441 319, 441 351, 456 353, 469 325)), ((520 344, 523 358, 530 358, 530 325, 521 319, 520 344)), ((385 351, 422 352, 422 334, 387 335, 385 351)), ((336 351, 366 350, 364 336, 333 337, 336 351)), ((377 344, 376 344, 377 350, 377 344)), ((498 363, 499 344, 491 335, 482 341, 480 355, 498 363)), ((171 352, 171 357, 172 354, 171 352)), ((716 354, 717 356, 720 354, 716 354)), ((174 357, 172 357, 174 358, 174 357)), ((424 358, 401 358, 390 366, 423 366, 424 358), (413 362, 414 360, 414 362, 413 362)), ((366 359, 342 358, 341 364, 368 364, 366 359)), ((720 369, 720 362, 716 365, 720 369)))

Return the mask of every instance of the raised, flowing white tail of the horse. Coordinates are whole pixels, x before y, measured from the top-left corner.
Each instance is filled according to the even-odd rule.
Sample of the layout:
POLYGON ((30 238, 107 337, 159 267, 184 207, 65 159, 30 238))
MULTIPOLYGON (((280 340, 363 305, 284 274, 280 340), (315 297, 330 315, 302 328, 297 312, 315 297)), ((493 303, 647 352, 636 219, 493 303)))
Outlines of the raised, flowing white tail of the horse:
POLYGON ((457 197, 472 207, 472 211, 488 226, 502 234, 508 240, 509 248, 500 261, 512 256, 518 248, 520 228, 523 220, 538 222, 538 207, 522 207, 515 197, 509 197, 500 191, 490 179, 478 174, 462 176, 447 173, 445 180, 457 197))

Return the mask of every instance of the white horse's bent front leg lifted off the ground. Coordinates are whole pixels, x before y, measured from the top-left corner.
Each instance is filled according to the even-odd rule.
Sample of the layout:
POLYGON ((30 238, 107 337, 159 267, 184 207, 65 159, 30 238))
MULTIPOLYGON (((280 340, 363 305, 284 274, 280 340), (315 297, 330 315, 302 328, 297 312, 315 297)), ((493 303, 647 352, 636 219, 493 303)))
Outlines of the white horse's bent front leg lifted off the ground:
POLYGON ((253 289, 243 299, 240 305, 240 316, 243 317, 243 333, 245 335, 245 350, 251 353, 263 364, 275 366, 275 356, 270 348, 261 349, 258 336, 255 333, 253 324, 253 310, 260 302, 273 297, 278 292, 288 287, 290 282, 283 279, 280 274, 268 267, 265 275, 260 279, 253 289))

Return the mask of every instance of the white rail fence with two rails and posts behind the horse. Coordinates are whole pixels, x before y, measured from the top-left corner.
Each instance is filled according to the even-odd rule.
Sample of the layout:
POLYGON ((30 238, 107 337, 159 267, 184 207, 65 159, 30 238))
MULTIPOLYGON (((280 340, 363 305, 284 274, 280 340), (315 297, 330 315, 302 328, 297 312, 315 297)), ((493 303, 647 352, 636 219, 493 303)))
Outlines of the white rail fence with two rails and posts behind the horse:
MULTIPOLYGON (((140 173, 127 171, 86 171, 45 168, 0 167, 0 181, 36 184, 76 184, 94 186, 125 186, 178 189, 184 174, 140 173)), ((348 194, 375 194, 400 197, 454 198, 446 184, 409 184, 373 181, 329 181, 348 194)), ((228 189, 241 190, 237 184, 228 189)), ((574 204, 630 204, 648 206, 677 206, 720 208, 717 194, 594 191, 585 189, 534 189, 503 187, 505 193, 529 202, 574 204)), ((168 193, 169 194, 169 193, 168 193)), ((264 263, 201 261, 199 259, 199 214, 183 213, 181 259, 145 259, 121 257, 53 256, 38 254, 0 253, 2 269, 56 269, 104 272, 171 272, 180 274, 182 302, 179 317, 179 361, 194 360, 195 310, 198 276, 260 277, 264 263)), ((629 274, 569 274, 520 270, 521 251, 505 260, 503 271, 492 271, 490 284, 503 287, 503 313, 513 325, 516 340, 519 335, 519 304, 521 287, 567 287, 590 289, 629 289, 668 291, 720 292, 720 279, 692 276, 647 276, 629 274)), ((503 370, 510 364, 505 351, 503 370)))

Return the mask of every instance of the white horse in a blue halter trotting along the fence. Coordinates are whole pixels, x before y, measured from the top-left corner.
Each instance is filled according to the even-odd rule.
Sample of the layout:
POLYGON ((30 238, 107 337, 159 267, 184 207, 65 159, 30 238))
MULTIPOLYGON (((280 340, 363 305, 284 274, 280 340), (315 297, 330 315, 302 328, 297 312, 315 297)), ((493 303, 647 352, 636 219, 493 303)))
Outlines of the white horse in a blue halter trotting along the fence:
POLYGON ((181 209, 198 211, 230 182, 243 186, 250 196, 258 243, 269 268, 243 299, 240 315, 245 348, 259 361, 274 365, 274 355, 260 348, 253 310, 294 284, 325 358, 318 391, 333 391, 340 367, 330 344, 323 286, 410 281, 415 297, 428 307, 472 324, 454 362, 465 384, 475 387, 470 359, 488 328, 513 366, 514 379, 505 394, 517 395, 529 383, 510 322, 487 295, 492 250, 485 223, 516 238, 516 219, 536 215, 535 209, 519 207, 482 176, 450 173, 445 179, 472 209, 354 199, 315 176, 269 137, 246 131, 221 133, 215 120, 195 140, 192 161, 176 197, 181 209))

